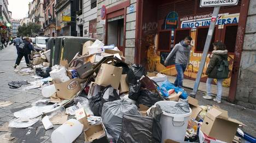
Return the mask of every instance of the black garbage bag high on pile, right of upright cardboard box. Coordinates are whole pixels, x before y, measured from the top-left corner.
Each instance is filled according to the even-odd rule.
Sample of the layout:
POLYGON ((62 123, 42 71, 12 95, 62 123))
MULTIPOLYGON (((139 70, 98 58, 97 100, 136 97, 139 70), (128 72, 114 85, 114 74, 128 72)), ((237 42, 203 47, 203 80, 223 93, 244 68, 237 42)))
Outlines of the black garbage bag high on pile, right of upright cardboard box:
POLYGON ((136 84, 138 79, 146 75, 146 69, 142 65, 133 64, 131 69, 127 71, 126 82, 136 84))

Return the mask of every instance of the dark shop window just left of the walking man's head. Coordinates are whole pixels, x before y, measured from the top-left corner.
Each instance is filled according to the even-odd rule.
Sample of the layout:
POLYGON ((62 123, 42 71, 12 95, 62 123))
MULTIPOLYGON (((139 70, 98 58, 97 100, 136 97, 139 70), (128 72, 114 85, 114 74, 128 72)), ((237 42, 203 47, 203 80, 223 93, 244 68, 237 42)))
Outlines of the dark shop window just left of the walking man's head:
POLYGON ((158 50, 161 52, 171 51, 171 30, 163 30, 158 33, 158 50))

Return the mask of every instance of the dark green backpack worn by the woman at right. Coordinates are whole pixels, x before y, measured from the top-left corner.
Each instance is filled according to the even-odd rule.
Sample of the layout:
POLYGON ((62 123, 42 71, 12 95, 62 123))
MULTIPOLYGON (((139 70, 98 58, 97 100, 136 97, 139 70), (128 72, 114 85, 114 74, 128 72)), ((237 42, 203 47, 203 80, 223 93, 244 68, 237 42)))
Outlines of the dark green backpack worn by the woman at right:
POLYGON ((229 77, 229 62, 228 60, 222 59, 220 65, 217 68, 217 78, 226 79, 229 77))

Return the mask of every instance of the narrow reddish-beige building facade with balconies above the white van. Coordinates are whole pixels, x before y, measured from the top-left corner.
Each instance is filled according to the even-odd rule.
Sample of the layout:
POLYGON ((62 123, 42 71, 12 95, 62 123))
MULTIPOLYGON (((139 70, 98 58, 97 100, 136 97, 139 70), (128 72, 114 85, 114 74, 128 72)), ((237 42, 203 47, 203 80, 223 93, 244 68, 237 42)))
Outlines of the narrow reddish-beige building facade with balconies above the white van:
POLYGON ((55 0, 44 0, 44 35, 56 36, 55 0))

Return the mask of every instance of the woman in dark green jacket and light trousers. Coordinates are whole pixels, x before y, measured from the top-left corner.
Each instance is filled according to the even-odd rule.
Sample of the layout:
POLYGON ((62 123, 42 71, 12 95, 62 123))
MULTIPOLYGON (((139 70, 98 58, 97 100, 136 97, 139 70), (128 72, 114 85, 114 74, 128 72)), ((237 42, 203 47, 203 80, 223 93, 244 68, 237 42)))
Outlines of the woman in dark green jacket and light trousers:
MULTIPOLYGON (((206 100, 211 100, 212 99, 212 93, 211 93, 211 83, 213 79, 217 79, 217 96, 216 98, 213 99, 213 101, 217 103, 221 103, 222 101, 222 82, 223 82, 223 77, 219 77, 219 74, 217 74, 218 69, 220 68, 220 64, 222 64, 223 60, 228 61, 228 50, 226 50, 226 46, 224 43, 218 41, 213 43, 213 55, 210 60, 210 63, 207 67, 206 70, 206 75, 208 76, 207 81, 206 81, 206 90, 207 93, 203 98, 206 100)), ((228 72, 226 72, 228 73, 228 72)), ((228 77, 228 75, 226 75, 228 77)))

